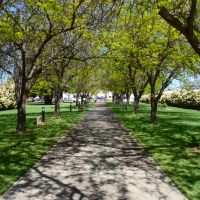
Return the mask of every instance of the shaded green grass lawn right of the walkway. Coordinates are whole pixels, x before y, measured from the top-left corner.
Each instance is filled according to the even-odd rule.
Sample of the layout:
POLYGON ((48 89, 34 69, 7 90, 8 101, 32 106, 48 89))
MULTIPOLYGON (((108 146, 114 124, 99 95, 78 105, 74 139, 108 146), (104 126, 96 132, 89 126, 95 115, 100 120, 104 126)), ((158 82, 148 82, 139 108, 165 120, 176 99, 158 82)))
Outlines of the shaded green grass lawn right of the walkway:
POLYGON ((191 200, 200 199, 200 111, 167 107, 150 124, 150 107, 140 114, 108 103, 133 136, 191 200))

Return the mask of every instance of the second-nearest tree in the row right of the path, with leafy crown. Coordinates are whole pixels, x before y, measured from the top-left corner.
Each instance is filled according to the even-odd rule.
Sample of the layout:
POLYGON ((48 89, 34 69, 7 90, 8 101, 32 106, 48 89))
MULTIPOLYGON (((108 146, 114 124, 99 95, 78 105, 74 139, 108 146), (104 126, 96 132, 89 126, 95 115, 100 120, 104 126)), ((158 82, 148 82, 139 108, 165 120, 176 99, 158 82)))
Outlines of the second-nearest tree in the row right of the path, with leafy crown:
POLYGON ((144 9, 132 7, 132 4, 122 7, 119 18, 117 26, 108 29, 107 34, 104 31, 105 49, 109 52, 109 62, 112 60, 112 64, 107 63, 107 65, 111 74, 112 70, 118 70, 118 82, 112 79, 116 74, 114 77, 111 75, 113 84, 121 88, 120 91, 124 90, 126 96, 129 96, 130 90, 134 94, 134 112, 138 113, 139 100, 148 84, 145 73, 148 63, 142 62, 143 57, 139 52, 147 48, 147 40, 151 37, 148 32, 151 28, 149 28, 150 18, 144 15, 144 9))

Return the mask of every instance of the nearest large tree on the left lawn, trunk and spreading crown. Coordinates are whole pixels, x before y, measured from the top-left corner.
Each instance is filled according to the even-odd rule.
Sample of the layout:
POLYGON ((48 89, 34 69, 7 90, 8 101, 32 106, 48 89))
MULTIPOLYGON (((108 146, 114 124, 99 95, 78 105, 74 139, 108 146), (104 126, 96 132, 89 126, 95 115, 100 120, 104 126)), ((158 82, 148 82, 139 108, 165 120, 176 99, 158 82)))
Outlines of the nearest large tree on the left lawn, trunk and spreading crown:
POLYGON ((15 82, 17 101, 17 132, 24 133, 26 121, 26 97, 40 75, 59 52, 48 56, 48 46, 53 38, 62 33, 85 26, 85 7, 90 2, 65 3, 48 0, 11 1, 1 7, 0 53, 1 68, 15 82))

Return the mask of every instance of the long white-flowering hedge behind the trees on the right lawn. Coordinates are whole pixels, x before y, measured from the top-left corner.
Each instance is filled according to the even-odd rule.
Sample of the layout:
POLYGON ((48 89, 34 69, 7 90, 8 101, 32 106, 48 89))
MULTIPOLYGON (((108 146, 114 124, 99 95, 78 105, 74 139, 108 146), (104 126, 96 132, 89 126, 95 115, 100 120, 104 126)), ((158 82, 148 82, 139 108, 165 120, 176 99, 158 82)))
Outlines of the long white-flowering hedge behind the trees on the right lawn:
MULTIPOLYGON (((149 103, 150 95, 143 95, 141 102, 149 103)), ((159 102, 161 104, 166 103, 168 106, 200 110, 200 91, 181 91, 163 94, 159 102)))

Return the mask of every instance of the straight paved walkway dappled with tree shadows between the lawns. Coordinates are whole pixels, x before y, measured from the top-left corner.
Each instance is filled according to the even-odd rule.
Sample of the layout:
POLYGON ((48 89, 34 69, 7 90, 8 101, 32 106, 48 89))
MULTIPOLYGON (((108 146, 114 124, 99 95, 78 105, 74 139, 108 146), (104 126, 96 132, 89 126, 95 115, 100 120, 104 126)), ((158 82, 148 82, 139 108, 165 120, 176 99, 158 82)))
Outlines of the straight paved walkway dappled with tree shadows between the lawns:
POLYGON ((186 198, 99 104, 0 199, 186 198))

